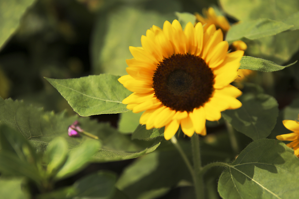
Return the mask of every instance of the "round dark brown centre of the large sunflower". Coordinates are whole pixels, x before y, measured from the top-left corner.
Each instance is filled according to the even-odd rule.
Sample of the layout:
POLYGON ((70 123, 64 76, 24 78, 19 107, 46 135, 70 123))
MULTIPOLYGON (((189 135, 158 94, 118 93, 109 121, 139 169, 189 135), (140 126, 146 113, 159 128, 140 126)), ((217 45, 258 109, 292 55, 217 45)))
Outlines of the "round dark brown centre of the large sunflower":
POLYGON ((192 112, 209 101, 214 75, 205 60, 191 54, 163 59, 153 76, 155 96, 176 111, 192 112))

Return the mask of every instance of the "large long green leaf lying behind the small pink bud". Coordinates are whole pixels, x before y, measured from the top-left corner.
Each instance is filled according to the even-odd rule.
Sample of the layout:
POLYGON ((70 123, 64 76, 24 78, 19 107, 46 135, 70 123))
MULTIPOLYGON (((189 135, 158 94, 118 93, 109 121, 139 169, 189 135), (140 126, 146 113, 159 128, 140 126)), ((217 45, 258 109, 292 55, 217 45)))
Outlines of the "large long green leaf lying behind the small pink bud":
POLYGON ((159 143, 131 140, 131 136, 120 134, 107 123, 97 123, 87 117, 71 116, 65 113, 54 114, 41 108, 27 106, 24 102, 0 98, 0 124, 7 124, 28 139, 37 151, 45 151, 56 137, 63 137, 68 149, 76 149, 90 137, 68 136, 68 126, 78 120, 80 127, 96 135, 102 149, 94 156, 94 161, 125 160, 139 157, 154 151, 159 143))

